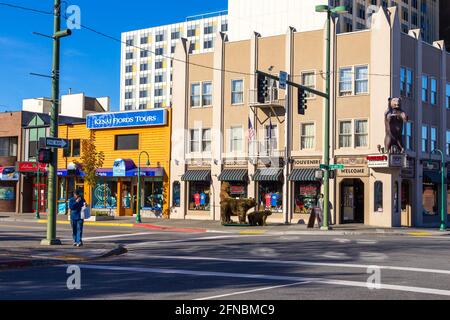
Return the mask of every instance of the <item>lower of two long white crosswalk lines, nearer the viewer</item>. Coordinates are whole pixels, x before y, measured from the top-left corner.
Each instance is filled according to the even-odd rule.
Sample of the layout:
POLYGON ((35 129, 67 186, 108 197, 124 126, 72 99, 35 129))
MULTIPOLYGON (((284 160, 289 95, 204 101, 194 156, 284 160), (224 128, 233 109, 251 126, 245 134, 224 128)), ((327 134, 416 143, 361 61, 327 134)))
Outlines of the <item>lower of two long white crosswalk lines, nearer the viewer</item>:
MULTIPOLYGON (((66 266, 62 266, 67 268, 66 266)), ((275 276, 265 274, 243 274, 243 273, 229 273, 229 272, 212 272, 212 271, 194 271, 194 270, 182 270, 182 269, 158 269, 158 268, 134 268, 134 267, 116 267, 116 266, 100 266, 100 265, 79 265, 81 269, 89 270, 104 270, 104 271, 125 271, 125 272, 137 272, 137 273, 159 273, 169 275, 187 275, 198 277, 221 277, 221 278, 238 278, 238 279, 252 279, 252 280, 276 280, 276 281, 288 281, 288 282, 314 282, 318 284, 328 284, 347 287, 359 287, 367 288, 367 282, 348 281, 338 279, 325 279, 325 278, 306 278, 306 277, 292 277, 292 276, 275 276)), ((380 290, 392 290, 403 292, 414 292, 423 294, 433 294, 439 296, 450 297, 450 290, 400 286, 391 284, 380 284, 380 290)))

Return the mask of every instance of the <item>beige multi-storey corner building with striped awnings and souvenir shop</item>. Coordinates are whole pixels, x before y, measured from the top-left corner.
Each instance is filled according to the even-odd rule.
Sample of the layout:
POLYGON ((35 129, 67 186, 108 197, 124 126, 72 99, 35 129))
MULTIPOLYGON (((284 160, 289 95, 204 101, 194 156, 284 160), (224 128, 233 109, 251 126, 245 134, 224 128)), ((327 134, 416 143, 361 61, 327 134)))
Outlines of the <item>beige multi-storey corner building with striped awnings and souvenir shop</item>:
MULTIPOLYGON (((286 117, 287 91, 256 102, 255 70, 284 70, 297 83, 325 91, 325 30, 229 42, 189 54, 179 41, 174 60, 171 217, 220 219, 220 191, 254 197, 272 221, 308 223, 321 193, 324 100, 308 97, 306 115, 286 117), (288 123, 286 127, 286 123, 288 123), (290 139, 286 141, 286 134, 290 139), (287 142, 288 146, 287 146, 287 142)), ((331 160, 344 164, 331 180, 334 223, 439 225, 439 157, 450 162, 450 74, 443 42, 420 30, 401 32, 398 9, 380 10, 367 30, 333 35, 331 160), (407 155, 383 153, 389 97, 402 97, 407 155), (430 161, 431 160, 431 161, 430 161)), ((447 190, 444 190, 447 194, 447 190)))

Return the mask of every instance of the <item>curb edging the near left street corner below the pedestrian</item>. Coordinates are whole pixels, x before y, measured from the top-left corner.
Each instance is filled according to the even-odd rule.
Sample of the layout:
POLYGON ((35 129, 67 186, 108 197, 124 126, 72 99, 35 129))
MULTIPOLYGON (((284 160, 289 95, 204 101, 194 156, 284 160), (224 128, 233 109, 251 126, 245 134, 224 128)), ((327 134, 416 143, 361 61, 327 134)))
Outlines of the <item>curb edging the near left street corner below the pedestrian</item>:
POLYGON ((12 270, 12 269, 22 269, 22 268, 36 268, 36 267, 52 267, 66 264, 74 264, 77 262, 90 262, 97 261, 100 259, 106 259, 110 257, 120 256, 127 253, 128 250, 120 245, 100 256, 93 258, 79 258, 79 259, 30 259, 30 260, 17 260, 17 261, 6 261, 0 262, 0 271, 12 270))

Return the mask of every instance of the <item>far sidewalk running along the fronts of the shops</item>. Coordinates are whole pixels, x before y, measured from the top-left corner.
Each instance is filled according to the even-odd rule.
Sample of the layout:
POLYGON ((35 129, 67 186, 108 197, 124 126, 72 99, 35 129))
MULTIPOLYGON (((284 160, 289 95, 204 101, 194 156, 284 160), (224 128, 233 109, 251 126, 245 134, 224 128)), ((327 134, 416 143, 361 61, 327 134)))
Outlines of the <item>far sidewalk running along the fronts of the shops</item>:
MULTIPOLYGON (((36 222, 46 223, 46 217, 36 220, 33 214, 0 214, 1 221, 36 222)), ((439 229, 425 228, 377 228, 365 225, 338 225, 333 226, 331 231, 321 231, 317 227, 308 229, 306 225, 282 223, 271 223, 267 227, 224 227, 219 221, 211 220, 165 220, 143 218, 142 224, 136 224, 133 217, 117 217, 113 221, 87 222, 87 226, 97 227, 120 227, 120 228, 142 228, 167 232, 182 233, 226 233, 226 234, 248 234, 248 235, 391 235, 391 236, 450 236, 450 230, 441 232, 439 229)), ((58 216, 58 224, 69 224, 66 216, 58 216)))

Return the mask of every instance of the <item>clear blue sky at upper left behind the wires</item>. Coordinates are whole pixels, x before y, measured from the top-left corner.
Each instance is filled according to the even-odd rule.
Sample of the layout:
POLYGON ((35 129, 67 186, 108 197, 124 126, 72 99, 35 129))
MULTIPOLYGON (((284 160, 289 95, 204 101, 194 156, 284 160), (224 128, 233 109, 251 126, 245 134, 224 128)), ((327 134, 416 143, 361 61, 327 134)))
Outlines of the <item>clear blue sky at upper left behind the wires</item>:
MULTIPOLYGON (((0 0, 51 11, 53 0, 0 0)), ((73 0, 81 23, 120 38, 121 32, 184 21, 186 16, 226 10, 226 0, 73 0)), ((65 28, 65 22, 63 23, 65 28)), ((49 97, 51 81, 30 72, 50 74, 53 17, 0 6, 0 112, 19 110, 22 99, 49 97)), ((61 93, 110 96, 119 107, 120 43, 88 30, 75 30, 62 40, 61 93)))

